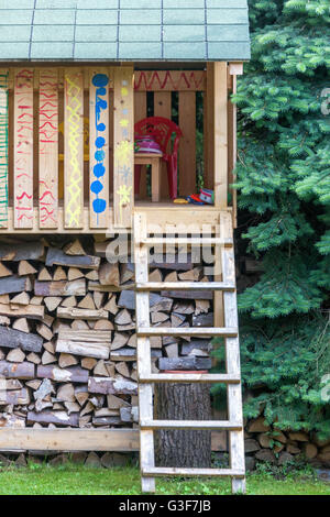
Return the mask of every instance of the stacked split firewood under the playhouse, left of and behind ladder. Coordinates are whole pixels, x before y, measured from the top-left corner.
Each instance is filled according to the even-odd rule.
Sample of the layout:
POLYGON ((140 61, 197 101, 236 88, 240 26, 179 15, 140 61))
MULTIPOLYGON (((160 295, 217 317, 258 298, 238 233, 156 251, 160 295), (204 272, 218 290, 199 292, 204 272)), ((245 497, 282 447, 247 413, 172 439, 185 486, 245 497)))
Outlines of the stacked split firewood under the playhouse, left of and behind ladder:
MULTIPOLYGON (((134 427, 134 266, 110 241, 0 241, 0 427, 134 427)), ((154 263, 151 282, 204 280, 204 267, 154 263)), ((212 326, 212 292, 151 294, 154 326, 212 326)), ((153 369, 206 370, 207 339, 152 338, 153 369)))

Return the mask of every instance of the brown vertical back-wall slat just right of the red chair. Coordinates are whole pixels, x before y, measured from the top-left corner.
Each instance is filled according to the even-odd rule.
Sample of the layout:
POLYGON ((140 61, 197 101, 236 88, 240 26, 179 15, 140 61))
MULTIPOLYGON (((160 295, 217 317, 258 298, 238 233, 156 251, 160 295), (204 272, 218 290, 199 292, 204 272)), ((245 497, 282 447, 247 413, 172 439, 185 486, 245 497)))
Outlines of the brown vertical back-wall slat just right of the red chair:
POLYGON ((179 92, 179 195, 196 193, 196 94, 179 92))

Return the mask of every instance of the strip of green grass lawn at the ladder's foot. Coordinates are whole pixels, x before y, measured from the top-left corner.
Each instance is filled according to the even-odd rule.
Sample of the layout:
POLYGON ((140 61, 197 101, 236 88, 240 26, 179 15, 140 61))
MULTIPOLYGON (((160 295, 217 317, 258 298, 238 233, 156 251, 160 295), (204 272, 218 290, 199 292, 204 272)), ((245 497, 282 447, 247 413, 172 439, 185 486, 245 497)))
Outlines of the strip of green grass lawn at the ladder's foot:
MULTIPOLYGON (((158 479, 157 494, 228 495, 230 481, 158 479)), ((141 494, 136 468, 112 470, 72 464, 47 466, 31 464, 0 471, 0 495, 133 495, 141 494)), ((276 480, 270 473, 248 475, 250 495, 330 495, 330 483, 318 481, 310 472, 289 473, 276 480)))

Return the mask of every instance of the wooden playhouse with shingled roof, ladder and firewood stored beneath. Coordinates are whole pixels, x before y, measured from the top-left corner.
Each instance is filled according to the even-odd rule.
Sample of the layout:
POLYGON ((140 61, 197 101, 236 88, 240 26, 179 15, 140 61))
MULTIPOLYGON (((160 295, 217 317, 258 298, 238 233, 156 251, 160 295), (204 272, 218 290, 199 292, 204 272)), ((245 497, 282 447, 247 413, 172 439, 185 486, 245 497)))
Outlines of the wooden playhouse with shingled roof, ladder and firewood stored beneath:
POLYGON ((246 0, 6 0, 0 15, 0 373, 11 394, 0 400, 4 422, 0 449, 135 450, 140 436, 144 491, 154 490, 156 475, 202 473, 229 475, 233 491, 243 491, 232 233, 237 207, 230 188, 235 165, 235 107, 230 95, 250 56, 246 0), (158 154, 139 152, 134 145, 134 127, 146 118, 175 121, 182 132, 177 176, 172 177, 169 190, 166 156, 172 153, 173 139, 158 154), (138 188, 136 174, 141 176, 138 188), (198 194, 197 175, 213 191, 212 202, 175 202, 175 197, 183 200, 198 194), (124 282, 105 258, 108 243, 118 235, 129 235, 135 262, 135 278, 128 274, 128 266, 120 270, 124 282), (69 242, 76 238, 82 248, 94 239, 95 253, 86 254, 77 241, 75 245, 69 242), (50 244, 53 241, 57 248, 50 244), (182 282, 175 280, 176 274, 170 277, 174 282, 162 273, 148 278, 148 249, 164 245, 172 250, 186 245, 189 252, 191 246, 215 249, 217 270, 211 282, 200 271, 196 277, 187 275, 188 280, 183 276, 182 282), (121 293, 122 284, 122 293, 134 292, 135 321, 133 326, 125 322, 127 314, 121 314, 117 328, 109 323, 109 315, 118 317, 113 294, 121 293), (191 327, 188 320, 184 326, 151 324, 151 292, 152 296, 167 292, 166 299, 172 295, 179 299, 178 293, 186 300, 211 299, 212 324, 191 327), (84 316, 84 311, 89 312, 84 316), (69 328, 63 323, 61 328, 63 319, 84 324, 70 323, 69 328), (125 396, 132 395, 138 405, 136 387, 132 393, 132 386, 122 393, 113 388, 128 375, 123 351, 118 354, 110 346, 113 330, 118 336, 131 331, 138 342, 136 356, 129 359, 138 362, 140 420, 139 426, 125 429, 111 420, 119 408, 107 407, 106 397, 100 397, 119 393, 127 408, 125 396), (38 340, 33 341, 34 334, 38 340), (226 373, 162 374, 152 370, 152 340, 215 336, 226 338, 226 373), (88 348, 89 354, 84 352, 88 348), (98 350, 96 355, 91 350, 98 350), (43 360, 45 352, 48 355, 43 360), (78 356, 78 365, 76 360, 66 362, 67 355, 78 356), (108 377, 106 370, 95 373, 90 358, 111 362, 116 356, 124 363, 122 370, 110 364, 108 377), (66 382, 74 383, 74 388, 80 383, 80 388, 66 395, 74 396, 67 400, 61 400, 58 391, 57 398, 48 392, 47 398, 38 400, 35 392, 44 380, 54 383, 50 389, 66 382), (98 424, 91 426, 86 418, 82 421, 88 425, 79 426, 72 416, 77 413, 77 400, 81 400, 80 409, 92 404, 90 399, 86 403, 82 386, 100 385, 100 380, 99 392, 92 392, 94 404, 101 404, 92 417, 98 424), (154 420, 153 384, 170 381, 228 384, 228 420, 154 420), (4 415, 10 405, 12 418, 4 415), (64 408, 67 422, 61 421, 64 408), (55 417, 51 415, 56 411, 55 417), (18 424, 21 420, 24 422, 18 424), (53 428, 45 429, 47 424, 53 428), (155 468, 153 431, 179 426, 227 430, 229 469, 155 468))

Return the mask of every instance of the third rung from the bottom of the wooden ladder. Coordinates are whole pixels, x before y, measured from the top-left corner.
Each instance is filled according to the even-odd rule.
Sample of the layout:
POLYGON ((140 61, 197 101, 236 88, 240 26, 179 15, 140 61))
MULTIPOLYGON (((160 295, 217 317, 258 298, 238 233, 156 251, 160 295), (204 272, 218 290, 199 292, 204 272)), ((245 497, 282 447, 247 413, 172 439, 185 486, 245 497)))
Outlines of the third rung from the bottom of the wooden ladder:
POLYGON ((240 384, 240 375, 228 373, 151 373, 140 376, 140 383, 223 383, 240 384))

